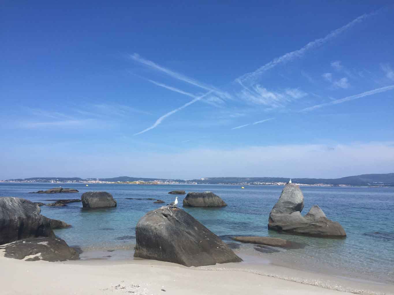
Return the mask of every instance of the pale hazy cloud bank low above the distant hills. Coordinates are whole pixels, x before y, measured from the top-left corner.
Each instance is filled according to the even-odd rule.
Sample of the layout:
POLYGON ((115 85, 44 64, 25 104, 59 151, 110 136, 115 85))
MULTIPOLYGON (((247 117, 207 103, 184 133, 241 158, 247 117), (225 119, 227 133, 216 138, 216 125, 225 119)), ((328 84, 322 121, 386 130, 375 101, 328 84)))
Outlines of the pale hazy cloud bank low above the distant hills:
MULTIPOLYGON (((102 152, 95 149, 94 153, 74 153, 73 165, 69 165, 69 158, 64 157, 64 151, 56 147, 50 143, 40 147, 23 147, 36 155, 28 165, 24 159, 21 160, 20 153, 4 157, 4 169, 0 171, 3 176, 0 179, 9 179, 11 175, 58 175, 59 171, 63 175, 74 175, 78 171, 79 177, 113 177, 134 173, 136 177, 175 179, 233 175, 336 178, 364 173, 389 173, 394 167, 394 142, 266 145, 193 149, 174 153, 150 152, 149 149, 145 152, 119 153, 118 146, 111 146, 109 149, 103 147, 105 150, 102 152), (115 149, 117 152, 112 153, 115 149), (55 161, 57 165, 42 165, 43 158, 47 162, 55 161), (183 169, 174 163, 182 163, 182 167, 193 169, 183 169)), ((21 147, 20 150, 24 149, 21 147)))

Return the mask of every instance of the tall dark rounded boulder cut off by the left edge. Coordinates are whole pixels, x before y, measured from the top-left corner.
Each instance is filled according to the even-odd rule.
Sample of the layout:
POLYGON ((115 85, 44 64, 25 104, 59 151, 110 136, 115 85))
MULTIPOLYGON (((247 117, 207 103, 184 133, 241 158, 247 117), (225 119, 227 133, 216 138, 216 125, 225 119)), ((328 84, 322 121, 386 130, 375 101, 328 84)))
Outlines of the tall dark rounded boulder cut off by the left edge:
POLYGON ((40 207, 26 199, 0 197, 0 245, 31 237, 51 237, 49 220, 40 207))

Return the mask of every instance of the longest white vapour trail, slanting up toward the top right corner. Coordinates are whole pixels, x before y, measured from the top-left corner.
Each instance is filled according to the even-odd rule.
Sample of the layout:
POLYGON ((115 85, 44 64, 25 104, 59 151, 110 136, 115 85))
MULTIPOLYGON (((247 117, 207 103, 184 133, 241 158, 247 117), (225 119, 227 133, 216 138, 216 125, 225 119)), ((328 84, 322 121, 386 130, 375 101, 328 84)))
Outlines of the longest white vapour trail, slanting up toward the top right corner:
POLYGON ((261 66, 260 68, 258 68, 254 72, 247 73, 247 74, 239 77, 238 79, 236 79, 236 81, 238 82, 238 81, 245 81, 245 80, 254 80, 256 77, 258 77, 262 73, 266 72, 267 70, 269 70, 269 69, 271 69, 271 68, 273 68, 273 67, 275 67, 275 66, 277 66, 279 64, 286 63, 286 62, 292 61, 293 59, 299 58, 299 57, 303 56, 303 54, 305 52, 307 52, 308 50, 311 50, 313 48, 317 48, 319 46, 322 46, 324 43, 326 43, 329 40, 335 38, 339 34, 343 33, 346 30, 348 30, 349 28, 351 28, 355 24, 358 24, 358 23, 362 22, 364 19, 370 17, 373 14, 374 13, 363 14, 363 15, 355 18, 354 20, 352 20, 351 22, 349 22, 345 26, 342 26, 339 29, 331 31, 331 33, 329 33, 325 37, 316 39, 314 41, 311 41, 308 44, 306 44, 305 46, 303 46, 302 48, 300 48, 299 50, 295 50, 295 51, 286 53, 286 54, 284 54, 284 55, 282 55, 280 57, 277 57, 277 58, 273 59, 272 61, 270 61, 269 63, 266 63, 264 66, 261 66))

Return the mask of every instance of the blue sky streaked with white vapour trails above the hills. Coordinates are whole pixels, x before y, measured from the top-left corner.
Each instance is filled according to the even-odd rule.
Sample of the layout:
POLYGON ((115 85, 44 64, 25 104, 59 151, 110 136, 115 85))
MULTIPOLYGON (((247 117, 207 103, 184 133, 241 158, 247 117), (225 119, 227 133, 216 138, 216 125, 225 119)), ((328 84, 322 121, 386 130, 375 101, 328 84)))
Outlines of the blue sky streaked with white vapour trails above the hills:
POLYGON ((0 179, 393 172, 389 1, 0 13, 0 179))

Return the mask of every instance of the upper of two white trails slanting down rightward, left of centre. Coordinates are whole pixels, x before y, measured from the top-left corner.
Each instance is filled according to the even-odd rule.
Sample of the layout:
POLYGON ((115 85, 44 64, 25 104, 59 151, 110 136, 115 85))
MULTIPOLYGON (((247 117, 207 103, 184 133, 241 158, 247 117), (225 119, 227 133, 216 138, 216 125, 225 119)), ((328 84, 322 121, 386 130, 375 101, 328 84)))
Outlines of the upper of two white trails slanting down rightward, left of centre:
POLYGON ((154 70, 158 70, 160 72, 163 72, 175 79, 178 79, 180 81, 184 81, 186 83, 189 83, 191 85, 194 85, 196 87, 200 87, 202 89, 205 89, 205 90, 208 90, 211 92, 215 92, 216 94, 218 94, 222 98, 230 98, 230 95, 226 92, 223 92, 211 85, 206 85, 205 83, 201 83, 195 79, 192 79, 192 78, 182 75, 180 73, 169 70, 168 68, 165 68, 164 66, 160 66, 160 65, 154 63, 153 61, 150 61, 148 59, 144 59, 143 57, 139 56, 138 53, 134 53, 134 54, 130 55, 130 58, 133 59, 134 61, 137 61, 137 62, 143 64, 143 65, 149 66, 150 68, 153 68, 154 70))

